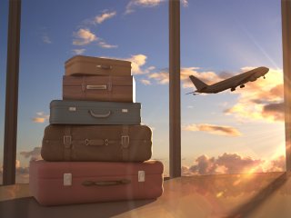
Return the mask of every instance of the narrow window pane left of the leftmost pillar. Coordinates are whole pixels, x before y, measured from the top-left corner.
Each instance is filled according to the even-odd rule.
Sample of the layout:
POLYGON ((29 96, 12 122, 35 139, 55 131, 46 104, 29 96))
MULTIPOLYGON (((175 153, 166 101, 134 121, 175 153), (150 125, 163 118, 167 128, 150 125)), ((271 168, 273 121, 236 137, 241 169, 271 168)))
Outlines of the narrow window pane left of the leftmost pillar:
POLYGON ((0 7, 0 184, 3 183, 8 1, 0 7))

